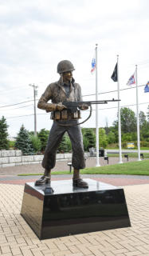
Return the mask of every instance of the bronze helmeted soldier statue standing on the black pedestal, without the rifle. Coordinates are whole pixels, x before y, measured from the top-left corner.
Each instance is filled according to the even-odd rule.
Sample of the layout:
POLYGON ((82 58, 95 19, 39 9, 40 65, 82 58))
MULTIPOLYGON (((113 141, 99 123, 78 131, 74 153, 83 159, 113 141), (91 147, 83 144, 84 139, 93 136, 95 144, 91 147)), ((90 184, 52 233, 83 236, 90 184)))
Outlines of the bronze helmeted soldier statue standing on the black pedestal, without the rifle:
POLYGON ((57 147, 61 138, 67 131, 73 148, 73 186, 88 187, 88 183, 80 178, 80 169, 84 169, 84 146, 83 138, 78 124, 80 110, 87 110, 88 105, 83 104, 80 110, 71 112, 67 110, 62 102, 80 102, 82 101, 80 85, 73 78, 74 66, 72 62, 63 60, 57 65, 57 73, 60 74, 58 82, 49 84, 45 93, 41 95, 37 107, 51 112, 53 126, 49 133, 49 139, 45 148, 45 154, 42 166, 45 168, 44 175, 35 182, 35 186, 49 184, 51 180, 51 169, 56 164, 57 147), (49 100, 52 103, 48 103, 49 100))

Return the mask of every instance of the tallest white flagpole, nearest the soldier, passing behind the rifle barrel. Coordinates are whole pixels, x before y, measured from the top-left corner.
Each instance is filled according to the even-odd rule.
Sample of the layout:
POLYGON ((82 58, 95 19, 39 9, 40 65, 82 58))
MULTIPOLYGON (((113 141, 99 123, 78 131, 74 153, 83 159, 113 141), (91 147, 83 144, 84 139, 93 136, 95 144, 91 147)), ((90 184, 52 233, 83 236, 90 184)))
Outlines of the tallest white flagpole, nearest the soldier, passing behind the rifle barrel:
MULTIPOLYGON (((97 47, 96 43, 96 101, 98 101, 98 66, 97 66, 97 47)), ((96 104, 96 166, 100 166, 99 158, 99 126, 98 126, 98 104, 96 104)))

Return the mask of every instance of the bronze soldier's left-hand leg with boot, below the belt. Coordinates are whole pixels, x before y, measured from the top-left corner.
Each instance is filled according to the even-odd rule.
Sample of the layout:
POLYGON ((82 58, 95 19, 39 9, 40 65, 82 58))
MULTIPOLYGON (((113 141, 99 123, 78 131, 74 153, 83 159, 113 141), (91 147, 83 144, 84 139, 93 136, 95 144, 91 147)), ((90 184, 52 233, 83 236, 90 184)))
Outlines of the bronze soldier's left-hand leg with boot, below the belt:
POLYGON ((50 182, 51 169, 53 169, 56 164, 57 147, 60 145, 61 138, 64 134, 65 128, 58 126, 57 122, 53 122, 42 161, 42 166, 45 168, 45 172, 44 175, 35 182, 35 186, 41 186, 50 182))

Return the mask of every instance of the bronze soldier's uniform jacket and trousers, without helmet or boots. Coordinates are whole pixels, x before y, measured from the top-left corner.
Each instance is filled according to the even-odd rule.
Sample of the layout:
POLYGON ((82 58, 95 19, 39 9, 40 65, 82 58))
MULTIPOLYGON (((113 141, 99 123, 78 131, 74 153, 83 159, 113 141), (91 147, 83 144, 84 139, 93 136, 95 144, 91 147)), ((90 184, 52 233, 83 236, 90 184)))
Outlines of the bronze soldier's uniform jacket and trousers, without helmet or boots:
MULTIPOLYGON (((42 110, 46 110, 48 107, 50 111, 53 110, 53 104, 82 101, 80 85, 76 83, 74 79, 71 82, 69 89, 67 88, 65 90, 65 86, 67 85, 62 82, 61 78, 58 82, 49 84, 45 93, 42 94, 39 99, 37 107, 42 110), (48 103, 49 100, 51 100, 52 103, 48 103)), ((52 111, 51 118, 54 121, 45 148, 42 166, 46 170, 52 169, 55 166, 57 147, 61 142, 61 138, 67 131, 73 148, 72 165, 75 169, 83 169, 85 167, 83 139, 80 126, 76 125, 80 118, 79 110, 77 110, 76 113, 69 113, 67 110, 52 111)))

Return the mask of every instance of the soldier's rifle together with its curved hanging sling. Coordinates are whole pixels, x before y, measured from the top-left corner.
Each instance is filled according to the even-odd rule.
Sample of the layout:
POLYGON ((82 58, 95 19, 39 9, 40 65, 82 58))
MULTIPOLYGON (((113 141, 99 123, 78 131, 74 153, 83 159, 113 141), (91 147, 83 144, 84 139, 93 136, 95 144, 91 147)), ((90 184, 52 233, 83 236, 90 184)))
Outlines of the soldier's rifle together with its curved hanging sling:
POLYGON ((88 118, 86 118, 83 122, 76 123, 75 125, 68 125, 68 124, 61 124, 59 123, 59 126, 78 126, 84 122, 86 122, 92 115, 92 104, 107 104, 108 102, 120 102, 120 99, 108 99, 108 100, 102 100, 102 101, 90 101, 90 102, 62 102, 62 105, 67 107, 67 110, 71 111, 72 113, 76 112, 77 108, 81 107, 82 105, 88 105, 90 107, 90 113, 88 115, 88 118))

